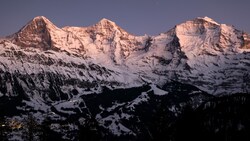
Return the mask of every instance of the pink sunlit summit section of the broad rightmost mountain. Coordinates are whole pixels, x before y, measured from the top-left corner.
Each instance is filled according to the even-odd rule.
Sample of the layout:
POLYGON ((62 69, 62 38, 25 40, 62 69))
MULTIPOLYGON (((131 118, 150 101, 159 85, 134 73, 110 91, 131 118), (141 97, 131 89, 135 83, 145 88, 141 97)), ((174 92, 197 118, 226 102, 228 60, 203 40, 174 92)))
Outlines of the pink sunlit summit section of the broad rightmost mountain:
POLYGON ((246 48, 248 40, 243 36, 242 31, 235 29, 234 26, 219 24, 208 17, 198 17, 181 23, 174 28, 174 31, 180 46, 188 50, 197 49, 197 47, 217 50, 242 46, 246 48))

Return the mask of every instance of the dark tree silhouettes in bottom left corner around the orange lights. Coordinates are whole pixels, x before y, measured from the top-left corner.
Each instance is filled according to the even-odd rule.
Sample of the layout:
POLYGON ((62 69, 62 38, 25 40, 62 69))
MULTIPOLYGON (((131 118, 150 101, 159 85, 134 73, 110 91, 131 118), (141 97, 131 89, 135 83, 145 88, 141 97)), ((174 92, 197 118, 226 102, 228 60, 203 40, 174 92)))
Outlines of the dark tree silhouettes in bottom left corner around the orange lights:
POLYGON ((39 123, 32 114, 28 114, 22 120, 1 117, 0 121, 0 141, 9 139, 48 141, 52 138, 61 138, 59 134, 50 129, 49 120, 45 119, 39 123))

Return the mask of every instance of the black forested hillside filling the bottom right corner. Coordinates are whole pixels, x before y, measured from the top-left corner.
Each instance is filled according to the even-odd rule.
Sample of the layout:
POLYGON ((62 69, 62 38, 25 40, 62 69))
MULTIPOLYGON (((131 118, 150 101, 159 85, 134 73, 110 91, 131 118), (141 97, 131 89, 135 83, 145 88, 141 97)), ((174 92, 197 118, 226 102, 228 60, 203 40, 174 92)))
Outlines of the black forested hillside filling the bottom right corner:
POLYGON ((173 125, 172 140, 250 140, 250 95, 215 97, 199 108, 186 107, 173 125))

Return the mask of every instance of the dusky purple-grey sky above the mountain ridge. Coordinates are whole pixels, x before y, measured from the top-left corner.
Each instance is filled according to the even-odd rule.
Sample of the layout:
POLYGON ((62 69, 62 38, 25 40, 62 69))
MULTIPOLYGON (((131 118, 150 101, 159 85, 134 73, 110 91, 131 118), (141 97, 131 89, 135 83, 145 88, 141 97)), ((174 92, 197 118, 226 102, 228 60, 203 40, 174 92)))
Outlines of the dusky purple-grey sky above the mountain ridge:
POLYGON ((176 24, 208 16, 250 33, 250 0, 1 0, 0 36, 36 16, 56 26, 90 26, 102 18, 135 35, 157 35, 176 24))

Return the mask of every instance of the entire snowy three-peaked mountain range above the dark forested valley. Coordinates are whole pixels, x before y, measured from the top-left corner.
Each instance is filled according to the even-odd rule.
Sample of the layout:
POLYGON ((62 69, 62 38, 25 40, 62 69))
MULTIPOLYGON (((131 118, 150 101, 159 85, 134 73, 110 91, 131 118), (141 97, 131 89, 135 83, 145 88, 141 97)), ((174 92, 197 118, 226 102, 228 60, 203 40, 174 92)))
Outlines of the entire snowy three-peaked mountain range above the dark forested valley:
POLYGON ((11 72, 52 72, 98 81, 96 85, 115 83, 112 87, 161 86, 176 80, 210 94, 237 93, 249 91, 249 40, 248 34, 208 17, 150 37, 131 35, 107 19, 60 29, 41 16, 2 41, 2 54, 14 48, 22 59, 19 54, 1 55, 8 60, 1 64, 11 72))

